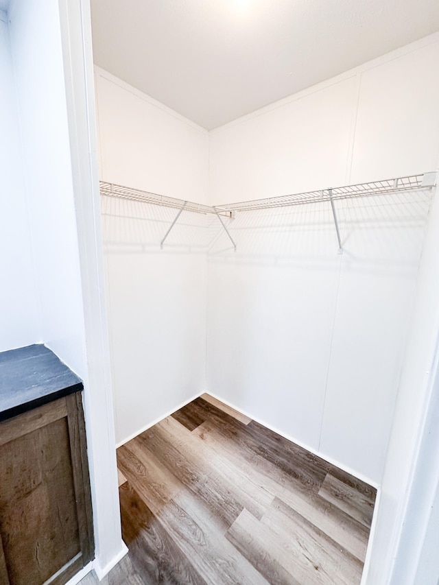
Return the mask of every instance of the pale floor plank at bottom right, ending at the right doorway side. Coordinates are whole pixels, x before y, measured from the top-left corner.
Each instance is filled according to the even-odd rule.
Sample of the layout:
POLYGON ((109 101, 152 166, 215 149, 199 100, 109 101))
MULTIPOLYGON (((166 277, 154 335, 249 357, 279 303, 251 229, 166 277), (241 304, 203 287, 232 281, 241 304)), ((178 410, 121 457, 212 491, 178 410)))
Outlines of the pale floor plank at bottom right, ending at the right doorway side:
POLYGON ((279 542, 288 558, 287 568, 300 583, 358 585, 363 563, 279 499, 264 514, 261 523, 270 538, 279 542))

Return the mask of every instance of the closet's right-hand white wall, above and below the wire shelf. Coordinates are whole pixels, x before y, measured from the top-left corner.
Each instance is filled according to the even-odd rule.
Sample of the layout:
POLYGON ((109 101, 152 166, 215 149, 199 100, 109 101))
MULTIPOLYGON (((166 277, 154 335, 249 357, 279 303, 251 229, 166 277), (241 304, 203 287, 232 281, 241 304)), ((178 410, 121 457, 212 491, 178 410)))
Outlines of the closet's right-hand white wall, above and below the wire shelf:
MULTIPOLYGON (((438 60, 436 35, 214 130, 211 201, 435 169, 438 60)), ((209 254, 209 390, 377 482, 428 211, 411 201, 337 204, 342 256, 324 204, 233 219, 237 254, 209 254)))

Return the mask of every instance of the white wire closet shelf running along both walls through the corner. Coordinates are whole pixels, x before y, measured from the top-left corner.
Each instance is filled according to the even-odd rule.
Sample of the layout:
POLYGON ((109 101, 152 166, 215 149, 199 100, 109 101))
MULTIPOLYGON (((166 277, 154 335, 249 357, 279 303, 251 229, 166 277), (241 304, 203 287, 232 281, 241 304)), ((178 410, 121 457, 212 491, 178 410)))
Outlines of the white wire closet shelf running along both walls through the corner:
MULTIPOLYGON (((346 185, 346 187, 333 187, 329 189, 320 189, 318 191, 308 191, 307 193, 294 193, 292 195, 279 195, 278 197, 215 205, 215 207, 188 201, 185 205, 185 211, 195 211, 196 213, 204 214, 212 213, 214 215, 219 213, 220 215, 230 217, 235 211, 253 211, 273 207, 318 203, 322 201, 331 202, 337 199, 352 199, 357 197, 369 197, 370 195, 385 195, 388 193, 402 193, 404 191, 431 189, 436 185, 436 178, 437 172, 435 171, 395 179, 346 185)), ((99 189, 101 195, 143 201, 145 203, 178 209, 180 209, 184 203, 184 200, 182 199, 168 197, 167 195, 158 195, 157 193, 150 193, 148 191, 141 191, 140 189, 122 187, 121 185, 104 181, 99 182, 99 189)))

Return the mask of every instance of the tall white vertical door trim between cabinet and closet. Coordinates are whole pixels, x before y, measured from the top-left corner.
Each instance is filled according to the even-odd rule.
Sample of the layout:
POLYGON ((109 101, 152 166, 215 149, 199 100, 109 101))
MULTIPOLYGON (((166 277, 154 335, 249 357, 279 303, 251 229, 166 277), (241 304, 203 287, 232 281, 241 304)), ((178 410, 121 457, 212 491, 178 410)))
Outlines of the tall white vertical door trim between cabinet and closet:
POLYGON ((59 0, 59 8, 84 302, 84 407, 95 529, 94 566, 102 577, 127 549, 121 540, 104 298, 90 3, 59 0))

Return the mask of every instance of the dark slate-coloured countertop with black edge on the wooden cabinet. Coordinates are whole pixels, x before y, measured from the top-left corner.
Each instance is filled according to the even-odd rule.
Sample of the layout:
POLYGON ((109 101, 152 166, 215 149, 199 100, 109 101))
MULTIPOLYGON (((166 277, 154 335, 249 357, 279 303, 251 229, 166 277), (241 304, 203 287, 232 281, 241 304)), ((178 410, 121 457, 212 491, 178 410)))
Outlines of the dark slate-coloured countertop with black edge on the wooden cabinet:
POLYGON ((81 379, 43 345, 0 353, 0 421, 82 387, 81 379))

